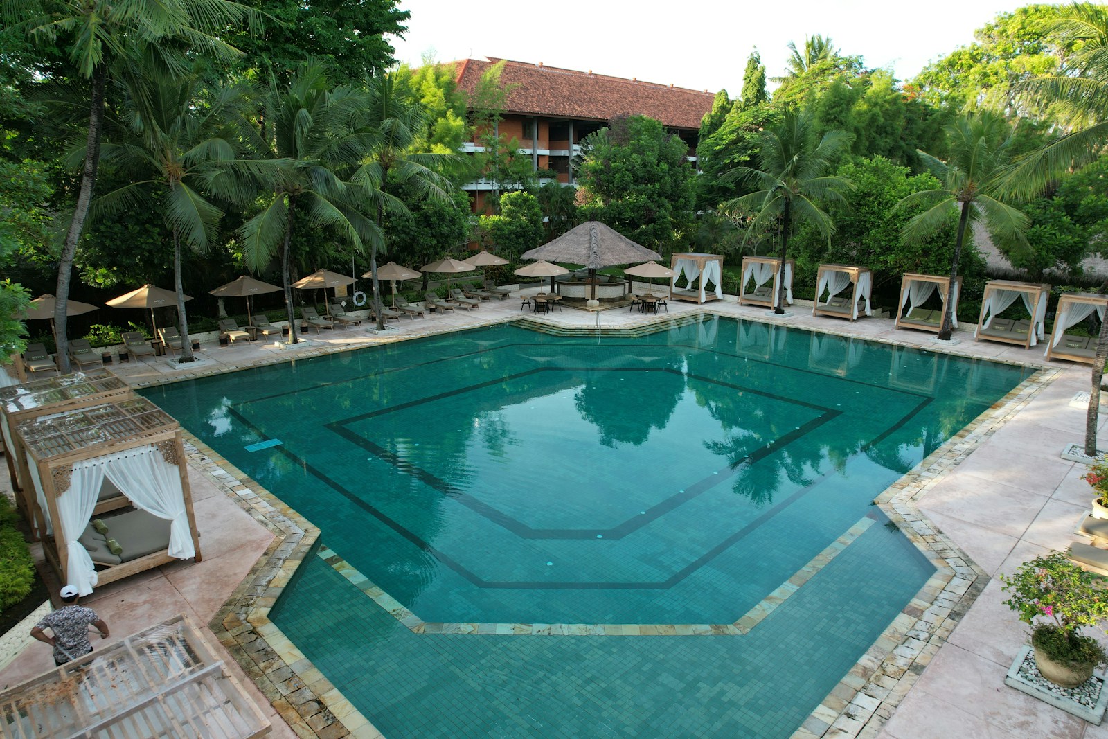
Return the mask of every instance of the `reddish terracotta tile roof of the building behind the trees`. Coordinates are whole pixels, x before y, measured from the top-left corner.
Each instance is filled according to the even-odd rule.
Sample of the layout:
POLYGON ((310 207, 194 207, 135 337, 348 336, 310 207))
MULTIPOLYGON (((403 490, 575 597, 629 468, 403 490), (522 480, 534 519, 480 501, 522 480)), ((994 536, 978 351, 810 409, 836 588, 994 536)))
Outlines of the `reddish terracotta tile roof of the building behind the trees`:
MULTIPOLYGON (((458 86, 472 93, 481 75, 499 61, 489 57, 452 62, 458 86)), ((648 115, 676 129, 699 129, 715 97, 698 90, 510 60, 500 81, 517 85, 509 94, 506 113, 593 121, 648 115)))

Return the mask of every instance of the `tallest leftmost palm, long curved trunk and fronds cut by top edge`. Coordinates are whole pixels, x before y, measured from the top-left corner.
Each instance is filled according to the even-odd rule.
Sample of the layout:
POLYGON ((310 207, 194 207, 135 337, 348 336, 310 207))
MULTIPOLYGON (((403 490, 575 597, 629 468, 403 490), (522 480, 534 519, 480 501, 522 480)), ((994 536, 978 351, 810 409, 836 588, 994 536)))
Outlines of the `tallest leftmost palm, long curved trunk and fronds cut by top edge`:
POLYGON ((37 41, 53 45, 60 35, 66 40, 78 75, 91 85, 81 187, 59 258, 54 290, 58 365, 62 372, 70 369, 66 302, 73 258, 96 185, 109 78, 135 65, 142 54, 176 73, 184 70, 189 49, 232 58, 238 52, 212 34, 247 18, 257 18, 257 11, 229 0, 23 0, 0 6, 4 24, 23 28, 37 41))

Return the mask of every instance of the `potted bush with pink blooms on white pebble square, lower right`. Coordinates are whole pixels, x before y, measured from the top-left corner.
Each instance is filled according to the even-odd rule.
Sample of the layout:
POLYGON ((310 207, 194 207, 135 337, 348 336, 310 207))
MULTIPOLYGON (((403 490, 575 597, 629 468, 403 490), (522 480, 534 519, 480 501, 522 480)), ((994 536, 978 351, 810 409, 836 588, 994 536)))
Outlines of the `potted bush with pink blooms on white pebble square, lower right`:
POLYGON ((1051 552, 1025 562, 1010 577, 1001 575, 1001 582, 1012 594, 1004 604, 1032 627, 1039 675, 1073 688, 1108 660, 1096 639, 1078 633, 1108 617, 1108 589, 1095 575, 1051 552))

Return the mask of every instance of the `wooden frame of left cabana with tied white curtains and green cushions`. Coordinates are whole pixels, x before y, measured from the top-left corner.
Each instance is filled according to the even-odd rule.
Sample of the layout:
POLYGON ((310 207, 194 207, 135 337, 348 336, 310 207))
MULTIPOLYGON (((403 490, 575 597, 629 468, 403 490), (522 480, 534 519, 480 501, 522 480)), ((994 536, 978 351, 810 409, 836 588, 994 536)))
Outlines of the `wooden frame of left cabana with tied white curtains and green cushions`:
MULTIPOLYGON (((181 425, 161 408, 137 396, 114 399, 112 402, 86 408, 70 409, 62 413, 41 415, 23 421, 16 428, 16 437, 35 465, 42 497, 47 503, 47 521, 57 527, 61 516, 58 497, 69 489, 73 465, 140 447, 152 445, 165 462, 177 468, 181 492, 188 531, 195 548, 195 561, 201 561, 199 535, 193 513, 188 469, 182 440, 181 425)), ((33 486, 35 480, 29 480, 33 486)), ((127 491, 122 491, 126 496, 127 491)), ((130 499, 129 499, 130 501, 130 499)), ((38 504, 38 499, 35 499, 38 504)), ((94 514, 95 515, 95 514, 94 514)), ((88 522, 85 522, 88 523, 88 522)), ((42 536, 47 561, 66 582, 70 553, 59 532, 42 536)), ((98 585, 112 583, 138 572, 151 569, 176 557, 168 555, 168 545, 161 551, 98 569, 98 585)))

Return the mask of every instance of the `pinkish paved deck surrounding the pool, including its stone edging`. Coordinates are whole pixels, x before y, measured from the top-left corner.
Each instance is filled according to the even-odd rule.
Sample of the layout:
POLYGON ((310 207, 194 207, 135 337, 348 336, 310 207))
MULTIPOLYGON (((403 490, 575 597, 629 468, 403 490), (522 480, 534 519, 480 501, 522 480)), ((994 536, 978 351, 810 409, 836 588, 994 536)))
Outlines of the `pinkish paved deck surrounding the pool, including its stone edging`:
MULTIPOLYGON (((1028 350, 977 342, 964 326, 953 346, 941 346, 933 335, 896 329, 888 318, 849 322, 812 317, 810 304, 798 305, 783 317, 765 308, 738 306, 733 298, 699 307, 670 301, 669 309, 668 315, 653 316, 626 308, 597 314, 565 308, 526 317, 563 328, 597 329, 603 335, 605 329, 704 310, 1045 368, 884 496, 883 505, 914 541, 947 564, 931 589, 925 588, 929 592, 921 592, 905 608, 797 736, 1108 738, 1108 723, 1094 727, 1004 686, 1004 675, 1026 640, 1026 627, 1002 604, 1004 596, 995 578, 1079 538, 1073 532, 1090 499, 1088 485, 1080 480, 1085 468, 1061 460, 1059 452, 1083 439, 1085 408, 1071 399, 1088 388, 1087 366, 1048 366, 1042 345, 1028 350)), ((260 342, 205 346, 199 352, 205 361, 184 371, 164 360, 117 363, 110 369, 142 387, 514 320, 521 315, 521 300, 513 295, 484 302, 478 310, 391 321, 394 328, 381 335, 366 327, 311 332, 306 346, 291 350, 260 342)), ((194 451, 189 480, 197 500, 204 561, 166 565, 111 584, 86 603, 115 635, 177 613, 213 625, 214 636, 230 647, 227 661, 245 666, 245 674, 260 686, 244 680, 268 711, 274 736, 380 736, 305 664, 293 645, 281 643, 266 618, 252 615, 271 605, 275 588, 287 582, 297 557, 318 532, 314 534, 309 522, 298 520, 295 512, 238 475, 211 450, 194 451)), ((7 491, 8 485, 4 476, 0 490, 7 491)), ((49 649, 32 644, 0 670, 0 685, 12 685, 51 665, 49 649)), ((242 671, 237 675, 243 677, 242 671)))

